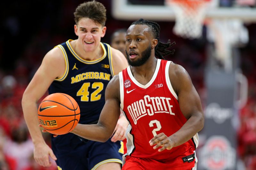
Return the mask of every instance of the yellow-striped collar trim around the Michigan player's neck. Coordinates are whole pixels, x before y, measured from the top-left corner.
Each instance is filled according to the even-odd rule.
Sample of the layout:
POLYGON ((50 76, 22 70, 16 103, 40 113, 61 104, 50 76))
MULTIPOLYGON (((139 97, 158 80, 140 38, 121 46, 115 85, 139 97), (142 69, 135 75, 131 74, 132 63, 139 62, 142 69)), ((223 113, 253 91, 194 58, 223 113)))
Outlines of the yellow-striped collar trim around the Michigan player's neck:
POLYGON ((103 60, 103 59, 107 56, 106 49, 104 48, 104 45, 100 42, 101 48, 102 48, 103 51, 104 51, 104 54, 102 55, 102 57, 100 57, 99 59, 96 59, 96 60, 92 60, 92 61, 84 60, 82 57, 80 57, 78 54, 76 54, 76 51, 73 49, 73 47, 72 47, 71 44, 70 44, 70 41, 73 41, 73 40, 68 40, 68 41, 66 42, 66 44, 67 44, 67 46, 68 46, 68 49, 69 49, 70 52, 76 57, 76 59, 79 60, 79 61, 82 62, 82 63, 85 63, 85 64, 95 64, 95 63, 100 62, 101 60, 103 60))

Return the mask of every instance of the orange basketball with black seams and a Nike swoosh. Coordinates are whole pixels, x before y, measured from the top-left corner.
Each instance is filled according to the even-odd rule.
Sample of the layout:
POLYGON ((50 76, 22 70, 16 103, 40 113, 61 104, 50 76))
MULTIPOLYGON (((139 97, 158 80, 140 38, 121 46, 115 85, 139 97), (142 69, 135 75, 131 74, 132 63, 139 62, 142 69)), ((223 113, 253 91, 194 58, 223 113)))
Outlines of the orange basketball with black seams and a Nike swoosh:
POLYGON ((64 93, 53 93, 44 98, 37 114, 43 128, 56 135, 70 132, 80 119, 80 109, 76 100, 64 93))

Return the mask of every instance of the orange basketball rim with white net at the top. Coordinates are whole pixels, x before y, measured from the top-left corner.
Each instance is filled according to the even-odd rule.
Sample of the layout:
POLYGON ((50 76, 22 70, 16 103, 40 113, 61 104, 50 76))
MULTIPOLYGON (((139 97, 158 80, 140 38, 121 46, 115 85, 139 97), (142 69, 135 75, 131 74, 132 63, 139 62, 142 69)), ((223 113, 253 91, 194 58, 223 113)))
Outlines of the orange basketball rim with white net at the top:
POLYGON ((195 39, 202 36, 207 4, 210 0, 165 0, 172 7, 176 22, 173 32, 182 38, 195 39))

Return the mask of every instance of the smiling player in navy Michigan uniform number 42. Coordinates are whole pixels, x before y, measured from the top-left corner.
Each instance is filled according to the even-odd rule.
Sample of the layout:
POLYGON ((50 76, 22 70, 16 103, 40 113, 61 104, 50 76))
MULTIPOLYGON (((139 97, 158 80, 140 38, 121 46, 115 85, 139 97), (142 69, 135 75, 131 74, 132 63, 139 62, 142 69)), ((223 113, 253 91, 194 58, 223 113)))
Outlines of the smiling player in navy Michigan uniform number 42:
MULTIPOLYGON (((35 149, 34 158, 42 166, 51 166, 49 156, 62 170, 121 169, 125 130, 128 122, 121 116, 115 124, 112 142, 90 141, 72 133, 52 137, 52 149, 44 142, 38 127, 37 101, 49 90, 72 96, 80 107, 81 124, 98 122, 105 104, 110 79, 128 67, 124 55, 100 42, 106 33, 106 9, 90 1, 80 4, 74 13, 76 40, 68 40, 50 50, 29 83, 22 98, 24 118, 35 149)), ((120 113, 120 111, 119 111, 120 113)), ((96 135, 96 134, 95 134, 96 135)), ((111 134, 112 135, 112 134, 111 134)))

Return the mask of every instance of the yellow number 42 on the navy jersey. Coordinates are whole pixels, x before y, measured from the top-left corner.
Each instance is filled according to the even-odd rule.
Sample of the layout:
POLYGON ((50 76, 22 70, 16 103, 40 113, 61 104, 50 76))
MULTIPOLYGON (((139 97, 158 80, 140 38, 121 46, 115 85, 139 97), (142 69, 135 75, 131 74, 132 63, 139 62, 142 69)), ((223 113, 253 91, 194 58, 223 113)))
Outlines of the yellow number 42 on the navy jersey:
MULTIPOLYGON (((91 86, 91 83, 84 83, 82 87, 76 93, 76 96, 81 96, 81 101, 89 101, 89 91, 88 88, 91 86)), ((96 89, 92 92, 90 101, 100 100, 101 94, 99 94, 103 90, 104 84, 102 82, 94 82, 92 83, 92 88, 96 89)))

